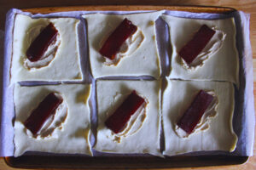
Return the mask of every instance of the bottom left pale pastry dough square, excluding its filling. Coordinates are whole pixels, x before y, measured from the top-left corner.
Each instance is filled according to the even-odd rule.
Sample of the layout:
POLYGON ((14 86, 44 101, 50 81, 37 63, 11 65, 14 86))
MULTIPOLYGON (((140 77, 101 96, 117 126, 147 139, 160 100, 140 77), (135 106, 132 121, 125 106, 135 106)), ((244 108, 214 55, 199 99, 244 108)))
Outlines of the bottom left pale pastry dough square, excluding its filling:
POLYGON ((15 156, 25 151, 91 155, 90 88, 86 84, 61 84, 24 87, 15 84, 15 156), (29 135, 23 122, 50 92, 61 94, 67 104, 67 116, 51 136, 36 139, 29 135))

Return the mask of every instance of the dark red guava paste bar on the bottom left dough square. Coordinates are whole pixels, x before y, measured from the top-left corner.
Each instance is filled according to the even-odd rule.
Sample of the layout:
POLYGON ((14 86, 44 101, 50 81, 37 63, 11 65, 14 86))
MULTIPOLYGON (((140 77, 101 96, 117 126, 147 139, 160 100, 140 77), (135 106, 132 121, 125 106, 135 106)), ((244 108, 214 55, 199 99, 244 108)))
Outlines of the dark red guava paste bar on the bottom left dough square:
POLYGON ((62 100, 55 96, 54 93, 48 94, 26 119, 26 122, 24 122, 25 127, 33 134, 38 133, 49 116, 55 114, 55 110, 62 103, 62 100))

